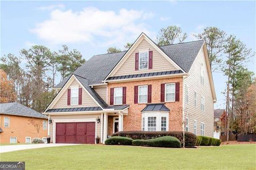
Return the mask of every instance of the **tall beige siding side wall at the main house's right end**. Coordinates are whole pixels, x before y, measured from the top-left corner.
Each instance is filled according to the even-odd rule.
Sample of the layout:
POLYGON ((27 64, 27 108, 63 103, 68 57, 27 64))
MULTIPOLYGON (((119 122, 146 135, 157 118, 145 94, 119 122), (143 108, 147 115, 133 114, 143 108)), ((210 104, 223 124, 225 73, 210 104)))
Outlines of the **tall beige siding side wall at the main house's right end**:
POLYGON ((201 134, 201 122, 205 123, 205 135, 213 137, 213 98, 210 86, 209 75, 207 73, 205 55, 203 47, 198 53, 189 71, 189 76, 185 79, 185 84, 189 88, 189 101, 185 101, 185 116, 189 118, 189 132, 194 132, 194 120, 197 121, 197 135, 201 134), (203 64, 203 66, 202 66, 203 64), (204 85, 200 83, 201 66, 205 72, 204 85), (194 92, 197 92, 197 106, 194 106, 194 92), (201 96, 205 97, 205 111, 201 111, 201 96))

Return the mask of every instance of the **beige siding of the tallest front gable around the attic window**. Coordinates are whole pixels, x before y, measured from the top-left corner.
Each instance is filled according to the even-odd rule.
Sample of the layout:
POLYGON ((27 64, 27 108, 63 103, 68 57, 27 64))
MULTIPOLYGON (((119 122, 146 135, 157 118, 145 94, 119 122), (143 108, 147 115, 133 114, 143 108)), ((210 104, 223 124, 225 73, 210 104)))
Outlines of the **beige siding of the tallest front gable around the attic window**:
POLYGON ((138 47, 133 51, 133 53, 127 58, 124 64, 114 74, 114 76, 172 70, 177 69, 169 61, 167 61, 164 56, 158 53, 157 50, 152 47, 145 39, 143 39, 138 47), (144 50, 153 50, 153 69, 135 71, 135 53, 144 50))

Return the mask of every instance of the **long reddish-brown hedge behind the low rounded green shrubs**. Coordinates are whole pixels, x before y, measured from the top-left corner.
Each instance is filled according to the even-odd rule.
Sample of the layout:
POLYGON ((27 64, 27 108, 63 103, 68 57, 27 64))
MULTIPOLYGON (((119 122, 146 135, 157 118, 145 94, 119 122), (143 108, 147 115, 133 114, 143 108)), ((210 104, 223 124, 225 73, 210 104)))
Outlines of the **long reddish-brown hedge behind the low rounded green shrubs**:
MULTIPOLYGON (((149 131, 121 131, 116 132, 112 135, 112 137, 120 136, 120 137, 129 137, 132 139, 153 139, 153 138, 159 138, 159 137, 175 137, 179 139, 181 146, 183 145, 183 133, 182 131, 156 131, 156 132, 149 132, 149 131)), ((185 146, 187 147, 194 147, 196 146, 196 135, 191 132, 185 132, 185 146)))

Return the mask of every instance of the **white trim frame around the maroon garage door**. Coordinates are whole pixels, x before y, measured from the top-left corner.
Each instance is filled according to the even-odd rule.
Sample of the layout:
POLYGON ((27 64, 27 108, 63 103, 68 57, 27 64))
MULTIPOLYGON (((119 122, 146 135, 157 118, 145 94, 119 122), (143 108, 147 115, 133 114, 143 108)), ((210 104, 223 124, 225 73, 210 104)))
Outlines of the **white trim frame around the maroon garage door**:
MULTIPOLYGON (((97 121, 95 118, 79 118, 79 119, 76 119, 76 118, 69 118, 69 119, 54 119, 52 120, 53 121, 53 143, 56 142, 56 123, 76 123, 76 122, 95 122, 95 138, 96 138, 96 135, 97 135, 97 121)), ((94 138, 95 140, 95 143, 96 143, 96 139, 94 138)))

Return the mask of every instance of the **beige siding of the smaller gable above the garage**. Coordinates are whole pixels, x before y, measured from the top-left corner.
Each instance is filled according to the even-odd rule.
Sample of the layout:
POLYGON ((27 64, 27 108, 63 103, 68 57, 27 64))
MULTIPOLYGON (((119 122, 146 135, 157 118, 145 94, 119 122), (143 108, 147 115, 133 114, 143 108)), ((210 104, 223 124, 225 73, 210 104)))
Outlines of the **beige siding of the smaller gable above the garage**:
MULTIPOLYGON (((74 80, 70 86, 79 86, 79 83, 74 80)), ((79 86, 81 87, 81 86, 79 86)), ((69 87, 70 88, 70 87, 69 87)), ((94 107, 98 106, 95 101, 87 94, 87 92, 83 89, 82 91, 82 105, 67 105, 68 101, 68 90, 60 97, 57 103, 53 106, 53 108, 70 108, 70 107, 94 107)))

